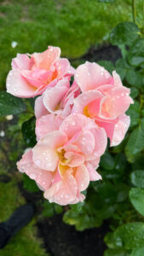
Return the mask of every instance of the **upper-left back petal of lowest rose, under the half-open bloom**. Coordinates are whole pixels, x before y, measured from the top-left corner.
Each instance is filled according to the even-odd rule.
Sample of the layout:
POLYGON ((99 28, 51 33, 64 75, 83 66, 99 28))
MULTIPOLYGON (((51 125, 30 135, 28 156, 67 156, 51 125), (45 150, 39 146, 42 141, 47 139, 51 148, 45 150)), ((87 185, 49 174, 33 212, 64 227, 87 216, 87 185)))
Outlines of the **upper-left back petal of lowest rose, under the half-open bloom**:
POLYGON ((55 114, 47 114, 36 120, 36 136, 37 140, 44 137, 51 131, 59 130, 60 124, 62 122, 62 118, 60 116, 56 116, 55 114))

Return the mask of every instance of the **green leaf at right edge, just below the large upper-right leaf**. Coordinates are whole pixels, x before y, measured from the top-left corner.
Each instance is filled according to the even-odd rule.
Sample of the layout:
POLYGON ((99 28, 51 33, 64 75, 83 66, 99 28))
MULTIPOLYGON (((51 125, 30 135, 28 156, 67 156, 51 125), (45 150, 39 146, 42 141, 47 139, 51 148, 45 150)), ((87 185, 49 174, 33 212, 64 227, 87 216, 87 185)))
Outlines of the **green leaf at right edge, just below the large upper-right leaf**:
POLYGON ((132 66, 140 66, 144 63, 144 38, 136 40, 131 46, 128 58, 132 66))

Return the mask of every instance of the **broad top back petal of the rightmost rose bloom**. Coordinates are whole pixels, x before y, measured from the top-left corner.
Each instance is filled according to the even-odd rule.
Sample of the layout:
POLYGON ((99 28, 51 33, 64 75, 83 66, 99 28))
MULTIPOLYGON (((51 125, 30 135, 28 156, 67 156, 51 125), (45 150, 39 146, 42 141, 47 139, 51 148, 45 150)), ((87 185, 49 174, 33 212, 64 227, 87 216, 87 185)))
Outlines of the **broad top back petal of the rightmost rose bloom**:
POLYGON ((75 80, 84 92, 86 90, 94 90, 102 84, 110 84, 112 77, 104 67, 95 62, 86 61, 77 68, 75 80))

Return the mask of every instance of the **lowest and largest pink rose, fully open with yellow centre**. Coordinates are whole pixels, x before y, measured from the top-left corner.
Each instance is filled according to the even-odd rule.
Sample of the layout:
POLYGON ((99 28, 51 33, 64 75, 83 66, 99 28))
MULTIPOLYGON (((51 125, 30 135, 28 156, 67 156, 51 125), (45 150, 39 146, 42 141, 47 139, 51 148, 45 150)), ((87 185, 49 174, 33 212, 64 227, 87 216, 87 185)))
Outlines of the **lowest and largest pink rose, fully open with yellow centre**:
POLYGON ((39 140, 18 162, 19 171, 34 179, 50 202, 65 206, 84 201, 81 192, 89 181, 101 178, 95 168, 107 147, 106 131, 82 114, 62 120, 51 113, 42 119, 39 140))

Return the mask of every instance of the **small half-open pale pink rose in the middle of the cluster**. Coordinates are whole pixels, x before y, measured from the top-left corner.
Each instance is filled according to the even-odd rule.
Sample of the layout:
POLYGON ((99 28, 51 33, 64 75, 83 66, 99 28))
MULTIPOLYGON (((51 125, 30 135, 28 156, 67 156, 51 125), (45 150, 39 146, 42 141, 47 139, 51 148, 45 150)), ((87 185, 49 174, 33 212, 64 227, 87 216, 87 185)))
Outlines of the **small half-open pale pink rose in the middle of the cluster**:
POLYGON ((55 87, 44 91, 35 102, 35 115, 39 119, 48 113, 59 114, 62 117, 68 116, 72 111, 73 99, 80 94, 78 84, 70 82, 67 78, 61 79, 55 87))

